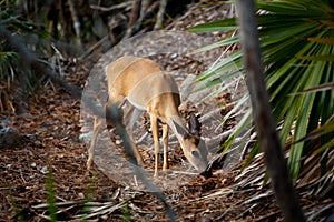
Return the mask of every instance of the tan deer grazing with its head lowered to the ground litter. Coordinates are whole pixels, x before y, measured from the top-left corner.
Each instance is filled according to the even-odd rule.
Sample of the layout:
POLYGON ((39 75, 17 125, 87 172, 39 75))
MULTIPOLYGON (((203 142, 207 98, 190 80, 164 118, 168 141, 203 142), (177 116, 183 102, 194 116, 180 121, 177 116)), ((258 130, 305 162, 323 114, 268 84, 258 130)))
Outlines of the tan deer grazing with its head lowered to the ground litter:
MULTIPOLYGON (((181 150, 196 170, 204 172, 207 168, 207 150, 200 143, 200 123, 194 113, 190 113, 188 125, 178 110, 180 95, 177 83, 173 74, 155 61, 148 58, 125 56, 106 67, 108 85, 108 100, 105 104, 106 113, 111 104, 121 108, 127 101, 131 109, 124 117, 124 122, 128 122, 129 131, 143 111, 149 115, 151 134, 154 140, 155 173, 158 175, 158 154, 159 154, 159 123, 161 123, 161 141, 164 147, 163 171, 168 165, 168 130, 175 133, 181 150)), ((108 117, 107 117, 108 122, 108 117)), ((100 117, 94 121, 91 144, 88 150, 87 169, 89 170, 94 159, 94 148, 101 127, 100 117)), ((203 144, 203 143, 202 143, 203 144)), ((143 158, 132 145, 134 154, 139 165, 144 165, 143 158)))

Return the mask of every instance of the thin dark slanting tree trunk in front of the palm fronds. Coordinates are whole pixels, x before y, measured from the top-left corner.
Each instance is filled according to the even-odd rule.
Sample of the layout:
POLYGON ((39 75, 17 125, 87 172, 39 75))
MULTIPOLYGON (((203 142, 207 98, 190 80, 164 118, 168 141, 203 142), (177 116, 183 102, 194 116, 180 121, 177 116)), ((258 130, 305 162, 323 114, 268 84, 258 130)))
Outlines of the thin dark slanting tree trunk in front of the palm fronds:
POLYGON ((244 68, 247 75, 254 123, 259 144, 265 153, 265 161, 276 200, 285 221, 305 221, 287 170, 281 140, 276 132, 276 124, 268 102, 259 53, 259 38, 254 2, 253 0, 237 0, 236 9, 239 17, 244 68))

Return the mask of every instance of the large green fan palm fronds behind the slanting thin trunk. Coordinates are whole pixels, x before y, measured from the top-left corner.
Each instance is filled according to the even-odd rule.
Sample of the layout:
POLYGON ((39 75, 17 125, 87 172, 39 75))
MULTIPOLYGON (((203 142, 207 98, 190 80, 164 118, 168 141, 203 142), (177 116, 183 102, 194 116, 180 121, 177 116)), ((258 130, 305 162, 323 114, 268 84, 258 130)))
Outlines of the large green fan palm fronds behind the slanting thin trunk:
MULTIPOLYGON (((282 123, 282 143, 285 144, 292 139, 288 163, 296 181, 303 160, 311 155, 314 145, 320 148, 316 154, 334 147, 334 130, 320 135, 318 144, 311 140, 301 140, 317 128, 326 128, 334 113, 334 90, 328 88, 334 83, 334 6, 327 0, 259 0, 257 9, 267 90, 276 122, 282 123), (326 90, 320 90, 322 85, 327 85, 326 90)), ((235 19, 227 19, 200 24, 190 30, 233 31, 233 28, 236 28, 235 19)), ((238 40, 238 37, 232 37, 202 50, 226 43, 236 44, 238 40)), ((218 82, 217 79, 233 80, 242 70, 242 52, 236 51, 215 68, 204 72, 199 81, 212 85, 210 83, 218 82)), ((247 118, 250 118, 249 112, 246 113, 247 118)), ((243 128, 245 121, 236 125, 235 132, 223 145, 224 150, 233 144, 243 128)), ((255 145, 255 152, 250 152, 250 157, 257 150, 255 145)))

